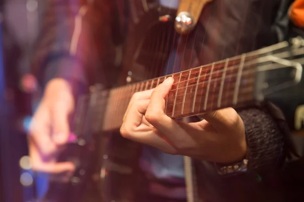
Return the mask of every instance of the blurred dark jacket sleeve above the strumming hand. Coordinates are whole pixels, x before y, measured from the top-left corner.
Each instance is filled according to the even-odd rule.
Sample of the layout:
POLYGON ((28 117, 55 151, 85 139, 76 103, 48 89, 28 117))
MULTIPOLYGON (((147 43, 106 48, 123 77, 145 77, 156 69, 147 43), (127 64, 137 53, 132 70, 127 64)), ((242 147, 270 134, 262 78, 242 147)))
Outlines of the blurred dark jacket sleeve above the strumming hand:
POLYGON ((75 88, 93 84, 97 67, 103 65, 104 58, 112 57, 111 1, 87 2, 45 3, 32 64, 32 72, 42 86, 55 77, 67 79, 75 88))

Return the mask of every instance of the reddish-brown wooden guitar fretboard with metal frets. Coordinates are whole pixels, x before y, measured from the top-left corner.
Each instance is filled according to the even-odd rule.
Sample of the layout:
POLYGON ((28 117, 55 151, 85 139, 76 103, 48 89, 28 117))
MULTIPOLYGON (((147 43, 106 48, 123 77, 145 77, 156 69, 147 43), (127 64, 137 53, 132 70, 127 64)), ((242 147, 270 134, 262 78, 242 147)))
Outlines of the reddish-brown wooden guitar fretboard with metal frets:
POLYGON ((253 100, 255 57, 237 59, 182 71, 111 89, 103 129, 119 128, 132 95, 153 89, 169 76, 174 78, 166 98, 165 113, 172 118, 189 117, 226 107, 243 107, 253 100))

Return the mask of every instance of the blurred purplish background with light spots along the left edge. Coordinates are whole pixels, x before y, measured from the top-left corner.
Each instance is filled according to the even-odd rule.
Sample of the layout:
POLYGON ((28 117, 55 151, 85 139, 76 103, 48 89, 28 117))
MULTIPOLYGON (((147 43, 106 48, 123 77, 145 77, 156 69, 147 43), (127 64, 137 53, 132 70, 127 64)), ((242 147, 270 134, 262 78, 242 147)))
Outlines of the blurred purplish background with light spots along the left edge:
POLYGON ((21 202, 34 193, 25 133, 39 97, 29 67, 45 1, 0 2, 0 201, 21 202))

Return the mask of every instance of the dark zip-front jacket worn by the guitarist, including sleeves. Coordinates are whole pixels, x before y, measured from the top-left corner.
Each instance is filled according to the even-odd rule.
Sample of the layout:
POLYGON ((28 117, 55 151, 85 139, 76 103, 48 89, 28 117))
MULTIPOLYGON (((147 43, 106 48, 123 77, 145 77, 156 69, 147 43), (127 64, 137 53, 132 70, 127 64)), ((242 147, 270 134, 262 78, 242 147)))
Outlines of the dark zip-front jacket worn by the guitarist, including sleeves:
MULTIPOLYGON (((77 86, 95 82, 113 85, 108 85, 108 81, 117 80, 118 72, 127 71, 117 65, 121 64, 120 50, 128 44, 126 33, 133 33, 134 25, 145 13, 142 2, 48 1, 33 60, 33 71, 41 83, 63 77, 77 86)), ((202 12, 196 39, 190 35, 190 42, 185 44, 184 58, 192 60, 185 60, 182 67, 207 64, 286 39, 290 3, 214 0, 202 12)), ((239 112, 249 146, 247 173, 220 177, 213 163, 186 158, 186 177, 191 178, 187 184, 188 201, 301 201, 304 139, 289 132, 279 112, 273 105, 239 112), (297 142, 296 146, 293 142, 297 142)), ((124 159, 130 160, 127 162, 136 162, 130 141, 115 137, 110 142, 119 145, 110 149, 112 156, 124 151, 124 159), (120 149, 114 149, 117 147, 120 149)), ((111 186, 119 185, 112 181, 111 186)), ((108 201, 115 198, 110 191, 107 193, 108 201)))

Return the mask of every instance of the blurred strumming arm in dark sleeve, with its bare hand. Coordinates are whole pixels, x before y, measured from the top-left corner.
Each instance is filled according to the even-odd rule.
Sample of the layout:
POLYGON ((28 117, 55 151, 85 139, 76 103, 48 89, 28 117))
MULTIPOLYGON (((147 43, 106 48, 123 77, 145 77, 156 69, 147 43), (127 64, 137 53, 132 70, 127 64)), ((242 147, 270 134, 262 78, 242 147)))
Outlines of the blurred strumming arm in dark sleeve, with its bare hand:
MULTIPOLYGON (((103 4, 102 1, 100 3, 103 4)), ((38 41, 33 62, 33 72, 40 79, 44 94, 31 123, 30 157, 36 171, 68 171, 71 174, 75 169, 71 162, 57 164, 55 160, 58 149, 69 138, 69 117, 73 114, 74 98, 87 90, 90 83, 88 78, 100 65, 98 56, 102 50, 97 50, 97 46, 104 41, 100 40, 97 44, 92 41, 92 36, 99 34, 93 32, 93 27, 102 26, 104 22, 94 24, 96 7, 93 5, 48 1, 46 8, 42 30, 44 34, 38 41), (67 15, 67 11, 71 15, 67 15)), ((102 8, 108 11, 106 6, 102 8)), ((107 15, 97 12, 98 15, 100 13, 107 15)))

